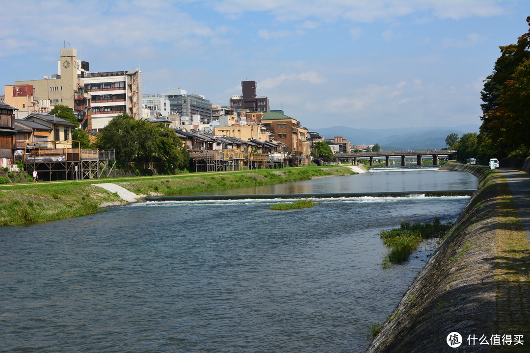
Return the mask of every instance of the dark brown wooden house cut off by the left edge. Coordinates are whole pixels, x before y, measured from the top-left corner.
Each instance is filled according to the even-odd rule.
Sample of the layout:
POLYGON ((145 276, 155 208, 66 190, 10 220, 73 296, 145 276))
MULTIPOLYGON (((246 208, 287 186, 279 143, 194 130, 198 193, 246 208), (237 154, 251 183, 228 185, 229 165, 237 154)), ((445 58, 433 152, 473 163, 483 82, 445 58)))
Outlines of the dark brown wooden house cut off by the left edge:
POLYGON ((11 166, 15 161, 16 129, 15 114, 16 107, 0 102, 0 165, 2 168, 11 166))

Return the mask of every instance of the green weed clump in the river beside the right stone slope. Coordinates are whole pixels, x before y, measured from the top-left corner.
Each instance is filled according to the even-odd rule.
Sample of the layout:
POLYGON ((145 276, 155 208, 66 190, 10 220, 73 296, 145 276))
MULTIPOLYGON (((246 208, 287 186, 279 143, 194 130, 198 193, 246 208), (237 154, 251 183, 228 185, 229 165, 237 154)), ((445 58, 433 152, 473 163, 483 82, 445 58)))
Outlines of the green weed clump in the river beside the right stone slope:
POLYGON ((453 223, 441 223, 436 218, 432 223, 401 223, 400 228, 384 230, 380 233, 381 238, 390 251, 383 258, 383 266, 390 263, 401 264, 409 259, 412 251, 418 248, 418 244, 427 238, 441 238, 451 229, 453 223))

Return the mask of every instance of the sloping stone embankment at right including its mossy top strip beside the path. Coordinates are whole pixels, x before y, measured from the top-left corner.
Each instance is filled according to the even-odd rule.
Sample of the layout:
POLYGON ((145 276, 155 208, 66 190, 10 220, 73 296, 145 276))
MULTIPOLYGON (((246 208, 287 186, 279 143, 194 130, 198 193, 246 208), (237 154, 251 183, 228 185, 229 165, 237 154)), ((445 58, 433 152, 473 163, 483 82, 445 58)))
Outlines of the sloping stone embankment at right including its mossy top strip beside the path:
POLYGON ((443 169, 474 174, 479 189, 366 352, 525 351, 530 251, 504 177, 478 166, 443 169), (458 348, 446 342, 452 332, 462 336, 458 348), (524 346, 506 335, 523 335, 524 346))

